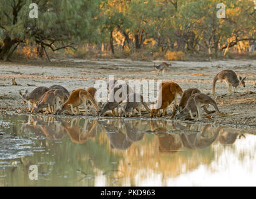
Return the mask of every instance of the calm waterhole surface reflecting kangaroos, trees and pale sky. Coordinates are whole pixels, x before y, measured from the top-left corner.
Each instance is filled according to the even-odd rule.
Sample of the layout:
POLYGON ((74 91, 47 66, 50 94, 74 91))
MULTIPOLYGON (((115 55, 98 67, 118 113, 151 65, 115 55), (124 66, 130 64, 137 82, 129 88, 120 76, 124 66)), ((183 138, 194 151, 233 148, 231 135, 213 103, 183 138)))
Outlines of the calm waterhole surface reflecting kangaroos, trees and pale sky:
POLYGON ((0 115, 0 186, 256 185, 256 130, 0 115), (38 180, 30 180, 36 165, 38 180))

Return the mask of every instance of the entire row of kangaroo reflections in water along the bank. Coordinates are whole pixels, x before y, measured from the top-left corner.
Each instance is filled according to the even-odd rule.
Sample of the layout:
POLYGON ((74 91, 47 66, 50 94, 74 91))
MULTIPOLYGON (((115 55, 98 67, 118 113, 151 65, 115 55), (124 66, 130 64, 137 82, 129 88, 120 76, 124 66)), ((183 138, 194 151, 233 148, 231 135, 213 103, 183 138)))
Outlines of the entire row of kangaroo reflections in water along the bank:
MULTIPOLYGON (((167 121, 98 121, 80 118, 32 117, 23 124, 20 132, 34 132, 36 136, 45 136, 61 140, 67 134, 72 142, 82 144, 97 136, 101 127, 106 131, 112 149, 126 150, 133 142, 143 139, 143 129, 157 136, 160 153, 174 153, 183 146, 187 149, 204 149, 215 140, 220 144, 234 144, 237 138, 244 136, 241 130, 230 127, 212 127, 201 124, 181 124, 167 121), (143 123, 143 125, 142 125, 143 123), (149 125, 150 124, 150 127, 149 125)), ((244 136, 245 137, 245 136, 244 136)))

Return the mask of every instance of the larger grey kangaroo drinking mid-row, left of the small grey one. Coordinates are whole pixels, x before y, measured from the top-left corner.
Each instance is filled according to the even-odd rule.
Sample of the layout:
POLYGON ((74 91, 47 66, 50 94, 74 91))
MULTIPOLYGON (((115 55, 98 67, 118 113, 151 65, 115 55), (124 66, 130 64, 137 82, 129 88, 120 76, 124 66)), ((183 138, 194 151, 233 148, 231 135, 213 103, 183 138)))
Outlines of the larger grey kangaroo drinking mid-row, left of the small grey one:
POLYGON ((106 113, 106 111, 111 110, 113 116, 118 116, 119 104, 121 104, 122 101, 124 101, 127 98, 127 96, 129 96, 130 93, 133 93, 133 90, 126 83, 121 85, 116 84, 114 88, 110 91, 109 101, 106 104, 104 104, 101 110, 97 112, 97 115, 102 116, 104 113, 106 113), (124 95, 122 95, 122 93, 124 93, 124 95), (117 97, 119 99, 117 99, 117 97), (115 108, 117 109, 117 113, 115 112, 115 108))

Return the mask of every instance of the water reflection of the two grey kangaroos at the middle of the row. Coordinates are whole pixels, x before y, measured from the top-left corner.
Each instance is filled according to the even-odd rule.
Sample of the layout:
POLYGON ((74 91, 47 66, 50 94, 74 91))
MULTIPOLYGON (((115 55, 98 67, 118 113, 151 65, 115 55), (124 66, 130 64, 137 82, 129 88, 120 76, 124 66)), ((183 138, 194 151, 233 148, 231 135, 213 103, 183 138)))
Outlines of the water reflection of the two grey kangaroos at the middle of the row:
POLYGON ((144 136, 143 132, 138 132, 134 121, 121 121, 117 125, 115 125, 116 121, 98 121, 98 123, 105 129, 112 149, 126 150, 133 142, 140 141, 144 136))

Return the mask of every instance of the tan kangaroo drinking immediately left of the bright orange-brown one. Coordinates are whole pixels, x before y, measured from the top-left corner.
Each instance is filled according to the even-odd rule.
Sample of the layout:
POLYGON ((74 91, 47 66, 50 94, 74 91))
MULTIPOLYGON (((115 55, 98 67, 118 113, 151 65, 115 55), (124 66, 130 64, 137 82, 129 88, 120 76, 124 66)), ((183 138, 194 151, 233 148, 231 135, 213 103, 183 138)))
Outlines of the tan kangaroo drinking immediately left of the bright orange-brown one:
POLYGON ((42 96, 41 100, 37 102, 36 106, 31 110, 31 113, 35 113, 42 108, 49 108, 51 113, 54 113, 59 104, 66 101, 67 96, 62 90, 49 90, 42 96))

